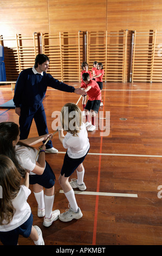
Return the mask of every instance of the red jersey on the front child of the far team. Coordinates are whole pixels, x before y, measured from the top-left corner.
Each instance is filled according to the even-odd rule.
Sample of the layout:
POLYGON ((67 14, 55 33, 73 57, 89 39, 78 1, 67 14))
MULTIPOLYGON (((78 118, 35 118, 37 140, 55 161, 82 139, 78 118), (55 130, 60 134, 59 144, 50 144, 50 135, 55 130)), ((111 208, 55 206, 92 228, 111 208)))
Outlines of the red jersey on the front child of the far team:
POLYGON ((87 95, 89 96, 88 100, 101 100, 101 90, 94 80, 90 80, 88 84, 84 83, 81 85, 81 88, 87 88, 88 86, 91 86, 90 90, 88 90, 87 95))

